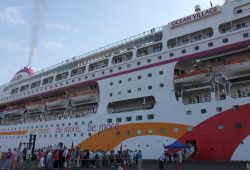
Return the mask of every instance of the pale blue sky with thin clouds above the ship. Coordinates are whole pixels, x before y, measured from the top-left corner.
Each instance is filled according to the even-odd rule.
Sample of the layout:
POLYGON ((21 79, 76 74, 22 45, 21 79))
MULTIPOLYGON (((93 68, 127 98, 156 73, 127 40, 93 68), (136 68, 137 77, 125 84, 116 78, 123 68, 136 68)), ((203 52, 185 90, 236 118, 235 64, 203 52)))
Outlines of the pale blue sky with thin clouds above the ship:
POLYGON ((0 84, 28 65, 34 26, 38 71, 192 14, 196 4, 210 0, 1 0, 0 84))

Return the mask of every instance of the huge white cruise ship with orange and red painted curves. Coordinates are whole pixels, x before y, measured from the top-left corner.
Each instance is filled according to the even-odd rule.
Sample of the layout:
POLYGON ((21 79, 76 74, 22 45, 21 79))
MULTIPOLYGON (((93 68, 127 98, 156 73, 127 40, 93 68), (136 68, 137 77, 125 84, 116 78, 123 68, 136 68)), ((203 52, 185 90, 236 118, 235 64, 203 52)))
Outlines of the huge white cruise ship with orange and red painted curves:
POLYGON ((250 1, 227 0, 0 86, 3 151, 35 137, 89 150, 192 144, 250 160, 250 1))

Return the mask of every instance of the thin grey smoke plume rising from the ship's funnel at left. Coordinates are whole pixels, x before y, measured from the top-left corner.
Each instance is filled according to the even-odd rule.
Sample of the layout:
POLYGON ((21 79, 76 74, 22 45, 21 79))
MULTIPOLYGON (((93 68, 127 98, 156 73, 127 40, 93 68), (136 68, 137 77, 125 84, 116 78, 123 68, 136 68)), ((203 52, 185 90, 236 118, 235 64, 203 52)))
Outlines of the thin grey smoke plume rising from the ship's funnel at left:
POLYGON ((33 20, 31 28, 30 50, 29 50, 29 63, 32 64, 35 47, 37 46, 38 33, 44 27, 43 14, 46 8, 46 0, 36 0, 33 7, 33 20))

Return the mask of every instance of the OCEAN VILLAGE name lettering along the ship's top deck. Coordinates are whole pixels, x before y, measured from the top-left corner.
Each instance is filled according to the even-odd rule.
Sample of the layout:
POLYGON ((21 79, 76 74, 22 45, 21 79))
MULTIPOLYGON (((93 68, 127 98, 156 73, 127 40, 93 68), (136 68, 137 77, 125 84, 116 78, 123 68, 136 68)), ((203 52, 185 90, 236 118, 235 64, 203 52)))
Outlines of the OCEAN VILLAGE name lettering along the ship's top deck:
POLYGON ((178 19, 178 20, 171 22, 171 28, 175 28, 175 27, 178 27, 180 25, 187 24, 189 22, 193 22, 195 20, 198 20, 198 19, 201 19, 204 17, 217 14, 218 12, 219 11, 218 11, 217 7, 213 7, 213 8, 201 11, 201 12, 197 12, 193 15, 189 15, 187 17, 184 17, 184 18, 181 18, 181 19, 178 19))

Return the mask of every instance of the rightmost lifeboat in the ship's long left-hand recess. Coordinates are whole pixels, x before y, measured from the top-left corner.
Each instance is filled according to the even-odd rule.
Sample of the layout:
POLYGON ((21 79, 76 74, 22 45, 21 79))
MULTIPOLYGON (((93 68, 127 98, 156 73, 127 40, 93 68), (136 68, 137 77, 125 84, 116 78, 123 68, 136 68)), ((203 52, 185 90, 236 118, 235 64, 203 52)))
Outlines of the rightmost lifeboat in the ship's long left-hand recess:
POLYGON ((98 99, 97 90, 78 91, 70 94, 70 100, 72 106, 96 103, 97 99, 98 99))

